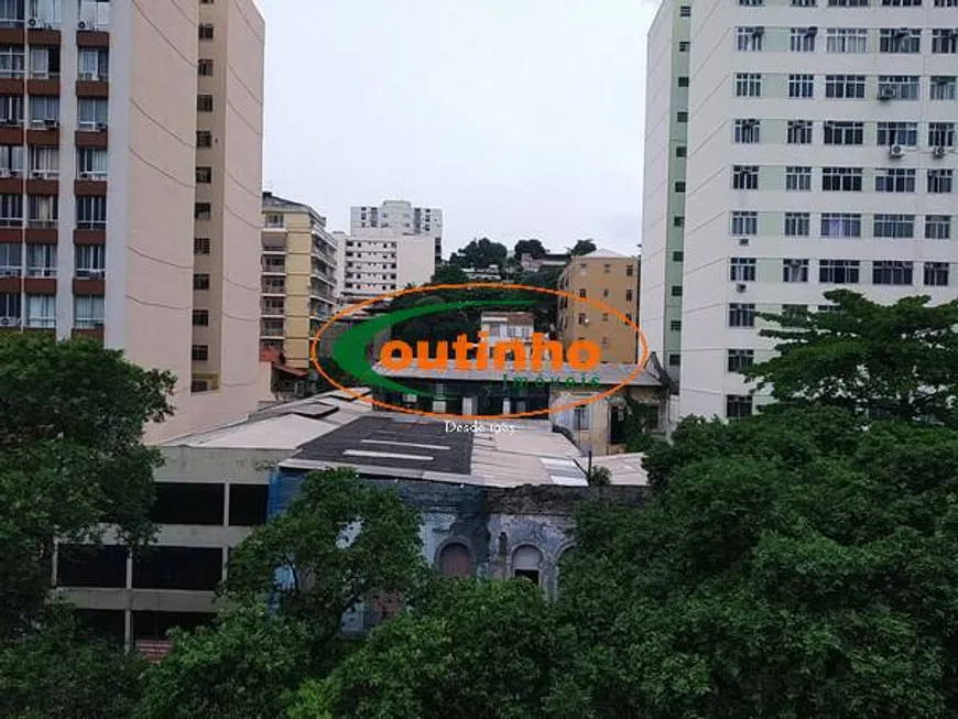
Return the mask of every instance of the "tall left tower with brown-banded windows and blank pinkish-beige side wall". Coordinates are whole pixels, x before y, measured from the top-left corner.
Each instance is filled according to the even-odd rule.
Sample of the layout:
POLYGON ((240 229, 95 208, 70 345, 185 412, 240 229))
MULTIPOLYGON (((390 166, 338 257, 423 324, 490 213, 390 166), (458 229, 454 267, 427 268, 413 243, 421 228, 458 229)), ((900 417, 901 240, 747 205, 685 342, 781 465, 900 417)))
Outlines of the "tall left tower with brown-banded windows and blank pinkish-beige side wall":
POLYGON ((252 0, 0 2, 0 329, 175 372, 151 442, 255 407, 263 34, 252 0))

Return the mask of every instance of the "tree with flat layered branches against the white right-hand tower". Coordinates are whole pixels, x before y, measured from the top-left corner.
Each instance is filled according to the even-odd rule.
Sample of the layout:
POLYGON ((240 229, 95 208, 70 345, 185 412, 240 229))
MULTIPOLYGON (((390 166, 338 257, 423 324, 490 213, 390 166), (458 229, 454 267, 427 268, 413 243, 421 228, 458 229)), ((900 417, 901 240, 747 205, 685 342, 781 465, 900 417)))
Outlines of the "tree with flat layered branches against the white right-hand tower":
POLYGON ((780 400, 801 397, 871 416, 958 426, 958 301, 880 305, 847 290, 825 293, 836 312, 762 315, 780 355, 747 377, 780 400))

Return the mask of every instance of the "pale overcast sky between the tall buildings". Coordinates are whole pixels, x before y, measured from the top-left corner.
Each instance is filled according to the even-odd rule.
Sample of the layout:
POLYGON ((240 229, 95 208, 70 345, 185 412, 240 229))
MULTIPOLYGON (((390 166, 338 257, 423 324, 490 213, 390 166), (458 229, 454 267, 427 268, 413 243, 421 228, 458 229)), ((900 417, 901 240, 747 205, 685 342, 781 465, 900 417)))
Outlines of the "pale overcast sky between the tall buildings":
POLYGON ((482 236, 636 252, 653 2, 259 4, 268 189, 330 229, 351 205, 440 207, 446 254, 482 236))

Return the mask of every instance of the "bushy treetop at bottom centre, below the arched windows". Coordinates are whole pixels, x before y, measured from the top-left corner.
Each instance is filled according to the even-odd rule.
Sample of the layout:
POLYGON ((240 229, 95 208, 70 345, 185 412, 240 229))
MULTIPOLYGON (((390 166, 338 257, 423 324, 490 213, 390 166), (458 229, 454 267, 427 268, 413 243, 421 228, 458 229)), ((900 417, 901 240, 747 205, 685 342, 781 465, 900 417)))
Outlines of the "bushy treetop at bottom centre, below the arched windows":
POLYGON ((443 585, 307 684, 291 719, 542 717, 558 636, 542 590, 524 580, 443 585))

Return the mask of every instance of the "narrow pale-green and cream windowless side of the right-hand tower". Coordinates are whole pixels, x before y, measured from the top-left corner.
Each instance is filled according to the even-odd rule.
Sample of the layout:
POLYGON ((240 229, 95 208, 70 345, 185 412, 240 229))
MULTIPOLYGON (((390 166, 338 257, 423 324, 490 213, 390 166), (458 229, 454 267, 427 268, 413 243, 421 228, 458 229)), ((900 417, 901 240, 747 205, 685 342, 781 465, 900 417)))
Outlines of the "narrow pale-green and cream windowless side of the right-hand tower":
POLYGON ((640 326, 674 382, 682 362, 682 265, 688 141, 688 14, 665 0, 649 31, 640 326))

